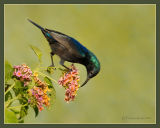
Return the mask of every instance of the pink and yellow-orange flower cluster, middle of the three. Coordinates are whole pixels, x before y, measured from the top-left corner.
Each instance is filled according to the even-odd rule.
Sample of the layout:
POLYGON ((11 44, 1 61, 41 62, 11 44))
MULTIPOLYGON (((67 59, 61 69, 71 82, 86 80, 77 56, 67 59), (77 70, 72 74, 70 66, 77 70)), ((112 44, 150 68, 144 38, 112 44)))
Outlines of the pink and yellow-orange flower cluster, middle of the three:
POLYGON ((42 111, 44 109, 43 105, 46 107, 50 105, 50 98, 47 95, 47 92, 49 92, 50 89, 48 88, 47 84, 42 82, 37 76, 38 74, 34 73, 33 77, 36 86, 29 90, 29 102, 35 103, 38 107, 38 110, 42 111))

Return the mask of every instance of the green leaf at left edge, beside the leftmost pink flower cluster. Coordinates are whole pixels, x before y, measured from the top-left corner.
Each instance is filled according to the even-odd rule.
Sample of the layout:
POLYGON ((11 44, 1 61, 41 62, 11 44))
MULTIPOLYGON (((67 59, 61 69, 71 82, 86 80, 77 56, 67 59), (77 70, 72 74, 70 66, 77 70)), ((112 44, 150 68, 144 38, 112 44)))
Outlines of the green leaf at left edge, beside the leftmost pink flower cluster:
POLYGON ((12 65, 8 61, 5 61, 5 82, 7 82, 12 78, 12 74, 13 74, 12 65))

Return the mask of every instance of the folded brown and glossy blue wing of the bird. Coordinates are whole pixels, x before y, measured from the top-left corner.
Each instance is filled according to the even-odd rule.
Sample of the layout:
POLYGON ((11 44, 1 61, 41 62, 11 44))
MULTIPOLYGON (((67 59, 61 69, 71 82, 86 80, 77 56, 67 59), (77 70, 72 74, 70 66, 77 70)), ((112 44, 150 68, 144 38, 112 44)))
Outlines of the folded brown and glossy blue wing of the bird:
POLYGON ((87 52, 87 49, 83 45, 81 45, 77 40, 54 30, 49 30, 49 29, 46 30, 50 32, 51 36, 58 43, 67 48, 70 53, 72 53, 78 58, 85 57, 85 52, 87 52))

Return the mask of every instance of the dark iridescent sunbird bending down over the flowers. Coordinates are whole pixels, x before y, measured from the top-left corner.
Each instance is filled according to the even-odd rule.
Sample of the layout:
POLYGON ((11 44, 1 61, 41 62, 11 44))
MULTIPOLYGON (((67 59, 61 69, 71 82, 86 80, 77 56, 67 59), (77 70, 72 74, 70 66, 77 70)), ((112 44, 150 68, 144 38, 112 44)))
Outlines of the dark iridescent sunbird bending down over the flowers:
POLYGON ((50 67, 54 67, 54 55, 58 55, 60 57, 60 64, 67 69, 69 68, 64 65, 65 61, 84 65, 87 70, 87 79, 81 87, 83 87, 91 78, 99 73, 100 62, 97 57, 76 39, 55 30, 43 28, 30 19, 28 19, 28 21, 38 27, 49 42, 52 62, 50 67))

